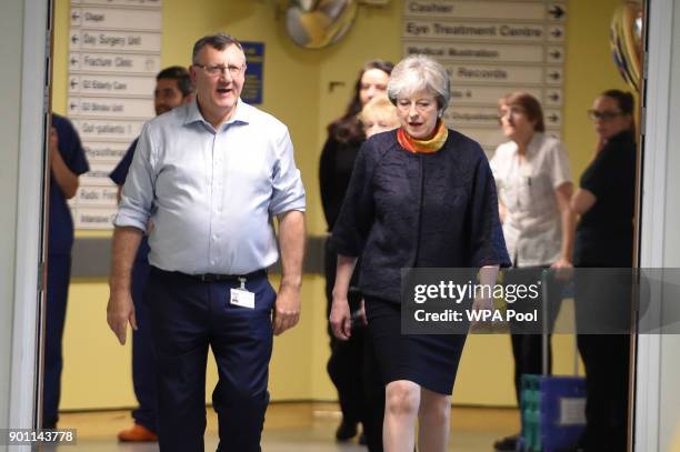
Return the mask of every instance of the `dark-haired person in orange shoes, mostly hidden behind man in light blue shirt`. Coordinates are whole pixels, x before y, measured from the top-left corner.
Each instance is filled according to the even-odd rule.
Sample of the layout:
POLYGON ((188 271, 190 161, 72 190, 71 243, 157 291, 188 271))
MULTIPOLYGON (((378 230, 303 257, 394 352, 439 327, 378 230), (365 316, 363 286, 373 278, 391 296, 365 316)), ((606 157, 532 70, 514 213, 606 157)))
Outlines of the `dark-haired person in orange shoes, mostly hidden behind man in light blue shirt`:
MULTIPOLYGON (((189 71, 179 66, 172 66, 160 71, 156 76, 156 89, 153 90, 153 108, 156 114, 162 114, 183 103, 193 100, 193 86, 189 71)), ((136 139, 128 151, 111 171, 109 178, 118 185, 118 199, 120 190, 126 183, 128 170, 132 163, 136 139)), ((151 342, 151 323, 149 320, 149 308, 143 302, 143 290, 149 275, 149 244, 147 238, 137 252, 132 267, 132 302, 137 313, 138 329, 132 332, 132 385, 139 408, 132 410, 134 425, 118 433, 118 440, 124 442, 157 441, 156 425, 157 394, 156 394, 156 364, 153 358, 153 344, 151 342)))

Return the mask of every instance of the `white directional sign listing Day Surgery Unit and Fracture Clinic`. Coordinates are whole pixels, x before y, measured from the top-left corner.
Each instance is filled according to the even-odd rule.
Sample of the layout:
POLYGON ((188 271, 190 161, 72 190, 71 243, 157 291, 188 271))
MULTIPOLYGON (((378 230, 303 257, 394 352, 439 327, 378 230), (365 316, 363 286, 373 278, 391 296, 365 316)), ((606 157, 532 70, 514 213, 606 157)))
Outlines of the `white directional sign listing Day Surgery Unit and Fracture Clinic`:
POLYGON ((161 6, 161 0, 71 0, 66 113, 90 162, 69 201, 76 228, 111 228, 117 189, 109 173, 154 115, 161 6))

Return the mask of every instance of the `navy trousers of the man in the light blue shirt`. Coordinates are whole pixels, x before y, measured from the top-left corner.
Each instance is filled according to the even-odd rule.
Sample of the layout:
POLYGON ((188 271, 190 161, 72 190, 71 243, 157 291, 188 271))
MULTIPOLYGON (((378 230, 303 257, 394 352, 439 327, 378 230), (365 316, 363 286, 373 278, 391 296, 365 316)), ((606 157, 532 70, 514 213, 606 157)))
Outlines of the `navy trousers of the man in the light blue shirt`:
POLYGON ((229 303, 239 282, 201 282, 151 268, 147 285, 157 358, 161 452, 202 452, 206 364, 212 349, 219 382, 212 392, 221 452, 259 452, 272 351, 276 292, 266 275, 250 279, 256 308, 229 303))

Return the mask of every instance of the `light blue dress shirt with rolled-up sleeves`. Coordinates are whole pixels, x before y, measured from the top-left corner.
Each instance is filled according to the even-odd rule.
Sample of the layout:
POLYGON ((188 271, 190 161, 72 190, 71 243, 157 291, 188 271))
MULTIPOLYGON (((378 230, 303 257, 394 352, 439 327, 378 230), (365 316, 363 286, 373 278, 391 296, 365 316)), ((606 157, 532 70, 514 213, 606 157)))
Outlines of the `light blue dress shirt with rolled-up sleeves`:
POLYGON ((272 218, 304 211, 288 128, 239 100, 216 130, 191 102, 144 124, 113 223, 147 231, 149 262, 189 274, 273 264, 272 218))

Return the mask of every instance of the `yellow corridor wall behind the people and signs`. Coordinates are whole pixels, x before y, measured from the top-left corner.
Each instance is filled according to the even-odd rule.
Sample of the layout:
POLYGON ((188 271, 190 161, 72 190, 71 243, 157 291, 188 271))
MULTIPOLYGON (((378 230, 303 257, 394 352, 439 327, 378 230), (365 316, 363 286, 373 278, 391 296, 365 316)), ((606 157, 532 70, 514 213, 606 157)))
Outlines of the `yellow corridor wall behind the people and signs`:
MULTIPOLYGON (((53 106, 64 112, 69 1, 56 1, 53 106)), ((390 7, 360 7, 349 34, 324 50, 302 50, 284 36, 264 0, 163 0, 161 64, 189 64, 191 46, 199 37, 226 30, 243 41, 266 43, 264 103, 261 108, 286 122, 296 144, 296 158, 308 193, 310 234, 321 234, 317 181, 326 124, 346 108, 359 68, 369 59, 397 61, 401 54, 401 1, 390 7), (329 91, 329 82, 343 87, 329 91)), ((564 134, 574 177, 590 159, 596 138, 586 110, 609 88, 626 88, 611 62, 608 33, 613 8, 620 0, 570 0, 567 28, 564 134)), ((90 233, 92 234, 92 233, 90 233)), ((107 233, 96 233, 108 235, 107 233)), ((79 233, 83 235, 83 233, 79 233)), ((108 290, 103 280, 71 285, 64 338, 62 409, 131 406, 130 350, 117 344, 106 325, 108 290)), ((572 339, 557 337, 556 370, 572 368, 572 339)), ((277 338, 271 364, 272 400, 332 400, 326 375, 328 338, 323 279, 304 279, 301 324, 277 338)), ((211 363, 208 398, 214 384, 211 363)), ((464 404, 511 405, 512 359, 507 337, 471 337, 460 365, 454 401, 464 404)))

